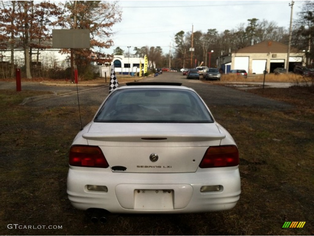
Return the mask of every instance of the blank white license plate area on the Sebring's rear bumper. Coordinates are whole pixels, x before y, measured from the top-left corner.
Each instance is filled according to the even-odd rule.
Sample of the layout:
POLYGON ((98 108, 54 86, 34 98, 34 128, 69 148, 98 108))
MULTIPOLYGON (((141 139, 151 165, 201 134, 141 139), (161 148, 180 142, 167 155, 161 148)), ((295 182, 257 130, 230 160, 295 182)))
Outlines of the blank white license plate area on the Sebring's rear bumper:
POLYGON ((173 189, 135 189, 134 209, 169 210, 173 208, 173 189))

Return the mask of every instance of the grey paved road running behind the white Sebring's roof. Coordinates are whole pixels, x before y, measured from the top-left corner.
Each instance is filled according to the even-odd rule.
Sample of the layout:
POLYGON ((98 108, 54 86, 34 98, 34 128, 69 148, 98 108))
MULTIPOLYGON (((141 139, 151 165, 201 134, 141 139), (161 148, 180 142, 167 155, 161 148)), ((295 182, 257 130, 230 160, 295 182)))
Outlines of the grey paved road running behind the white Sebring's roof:
MULTIPOLYGON (((263 98, 258 95, 247 93, 231 87, 218 86, 214 83, 204 83, 200 80, 187 80, 179 72, 164 72, 157 77, 147 77, 141 81, 162 81, 162 82, 180 82, 183 86, 191 87, 196 90, 209 107, 213 105, 230 105, 230 106, 249 106, 255 108, 274 108, 285 109, 291 108, 290 104, 278 102, 272 99, 263 98)), ((124 86, 123 84, 120 86, 124 86)), ((0 82, 0 89, 15 88, 14 82, 0 82), (8 84, 11 83, 11 84, 8 84)), ((46 86, 38 83, 24 83, 22 89, 36 89, 53 91, 58 96, 52 96, 38 101, 28 102, 25 105, 34 107, 55 107, 55 106, 73 106, 78 104, 76 87, 57 87, 46 86), (63 95, 62 95, 63 94, 63 95)), ((79 87, 79 103, 81 105, 99 106, 108 95, 108 87, 79 87)))

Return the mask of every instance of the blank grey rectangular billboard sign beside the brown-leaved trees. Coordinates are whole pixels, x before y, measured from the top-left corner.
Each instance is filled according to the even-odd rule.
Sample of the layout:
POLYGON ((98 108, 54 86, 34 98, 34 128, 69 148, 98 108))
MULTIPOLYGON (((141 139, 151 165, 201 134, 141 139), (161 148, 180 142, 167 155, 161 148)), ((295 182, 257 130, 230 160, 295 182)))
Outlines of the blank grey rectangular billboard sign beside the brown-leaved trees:
POLYGON ((89 30, 52 30, 52 48, 90 48, 89 30))

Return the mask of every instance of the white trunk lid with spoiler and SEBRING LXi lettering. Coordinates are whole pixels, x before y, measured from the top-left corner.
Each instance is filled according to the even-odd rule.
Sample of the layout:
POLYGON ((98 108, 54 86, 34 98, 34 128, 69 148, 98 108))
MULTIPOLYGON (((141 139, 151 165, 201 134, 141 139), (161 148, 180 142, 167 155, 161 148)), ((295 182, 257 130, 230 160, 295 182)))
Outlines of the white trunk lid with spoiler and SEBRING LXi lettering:
POLYGON ((215 123, 93 123, 83 137, 101 148, 112 171, 195 172, 225 134, 215 123))

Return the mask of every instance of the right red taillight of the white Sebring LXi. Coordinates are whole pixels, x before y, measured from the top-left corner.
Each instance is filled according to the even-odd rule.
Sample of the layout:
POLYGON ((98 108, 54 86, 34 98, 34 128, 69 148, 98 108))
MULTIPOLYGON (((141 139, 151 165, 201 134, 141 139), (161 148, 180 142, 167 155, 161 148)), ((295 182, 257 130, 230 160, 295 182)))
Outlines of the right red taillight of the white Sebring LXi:
POLYGON ((199 164, 200 168, 239 165, 239 150, 235 145, 209 147, 199 164))

